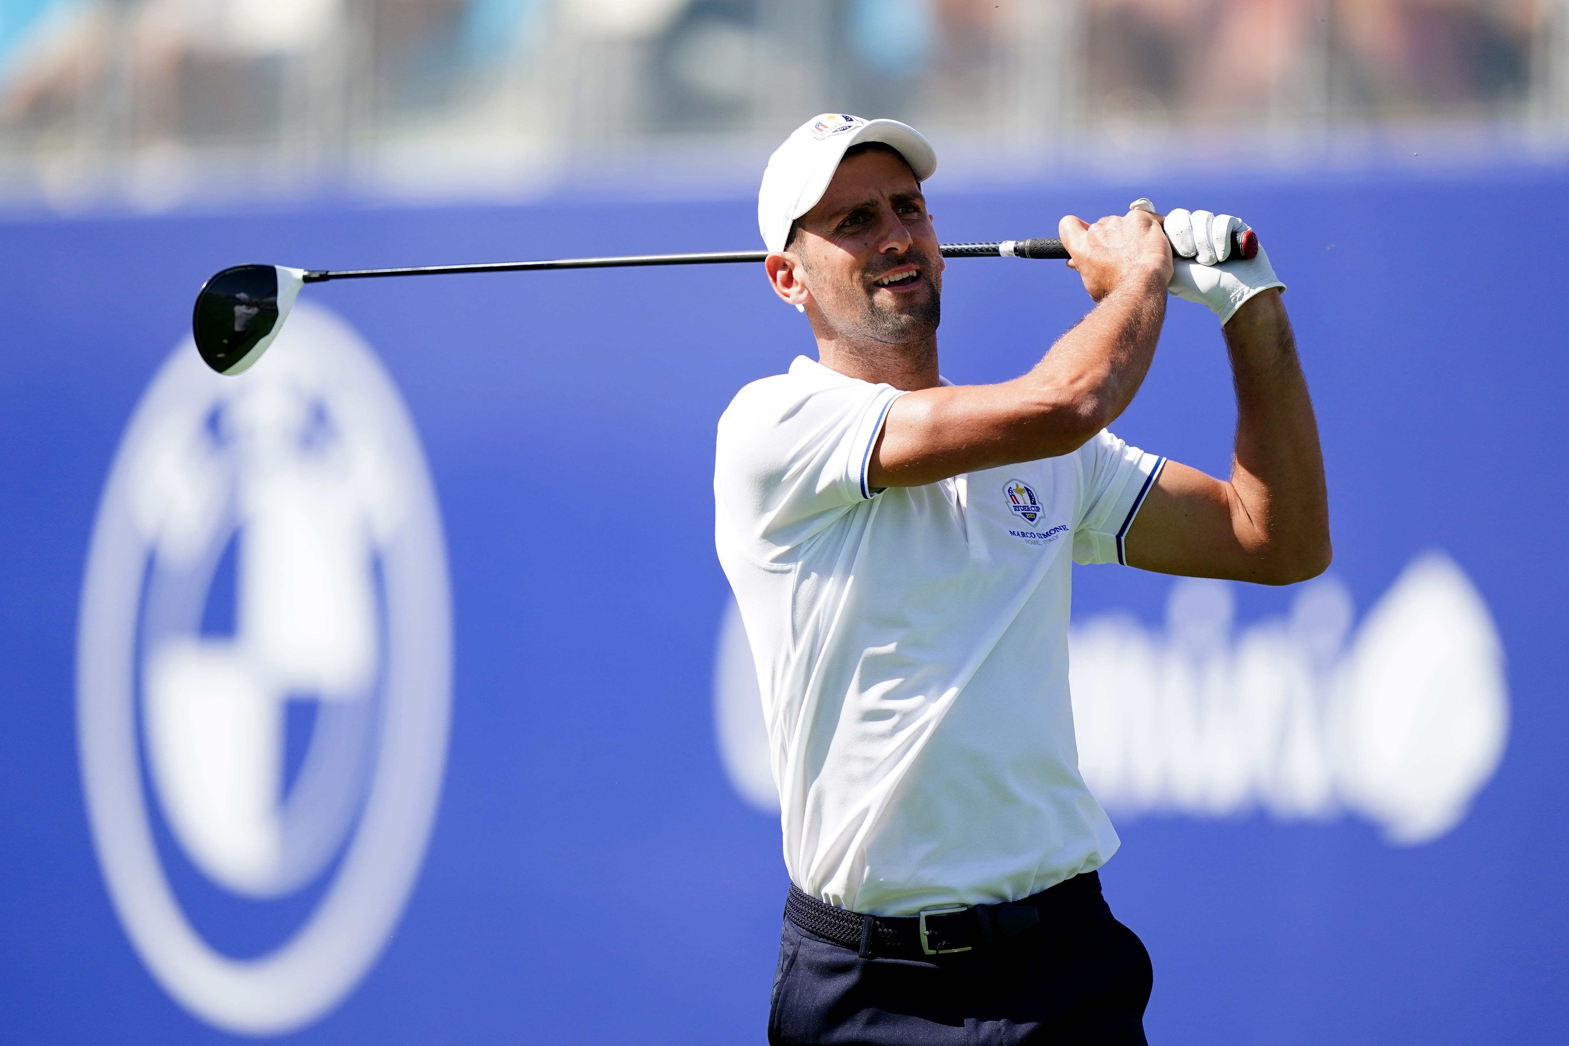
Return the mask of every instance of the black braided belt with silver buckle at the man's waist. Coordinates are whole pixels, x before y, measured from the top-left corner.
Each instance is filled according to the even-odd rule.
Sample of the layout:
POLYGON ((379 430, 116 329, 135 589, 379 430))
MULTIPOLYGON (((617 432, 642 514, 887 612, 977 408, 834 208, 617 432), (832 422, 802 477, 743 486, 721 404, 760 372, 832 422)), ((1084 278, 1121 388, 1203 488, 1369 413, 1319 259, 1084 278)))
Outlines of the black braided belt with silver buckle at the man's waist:
POLYGON ((1084 917, 1109 913, 1095 872, 1006 905, 946 905, 916 916, 863 916, 808 897, 794 883, 784 902, 784 916, 797 927, 855 949, 861 958, 971 952, 1037 927, 1067 928, 1084 917))

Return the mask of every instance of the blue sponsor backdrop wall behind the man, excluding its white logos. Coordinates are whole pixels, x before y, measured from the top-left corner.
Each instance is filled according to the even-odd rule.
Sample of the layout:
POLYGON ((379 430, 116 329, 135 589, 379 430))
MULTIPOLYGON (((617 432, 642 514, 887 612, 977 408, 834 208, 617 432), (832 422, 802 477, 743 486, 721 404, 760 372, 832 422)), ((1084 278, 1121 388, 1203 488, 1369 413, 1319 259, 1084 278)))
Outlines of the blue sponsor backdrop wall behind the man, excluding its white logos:
MULTIPOLYGON (((945 238, 1053 234, 1130 198, 1211 205, 1261 234, 1320 408, 1335 566, 1359 612, 1447 549, 1498 623, 1513 726, 1472 814, 1387 845, 1359 820, 1119 825, 1112 908, 1149 944, 1163 1043, 1549 1041, 1563 991, 1569 676, 1558 552, 1569 499, 1561 174, 932 187, 945 238)), ((72 659, 93 513, 122 428, 212 271, 747 248, 748 199, 303 209, 0 226, 0 1038, 226 1038, 154 983, 110 906, 83 811, 72 659)), ((733 794, 709 681, 726 599, 712 552, 714 422, 811 351, 752 268, 329 284, 386 361, 447 528, 457 670, 446 789, 405 917, 308 1043, 761 1041, 784 873, 733 794)), ((1028 367, 1087 309, 1051 262, 949 263, 945 372, 1028 367)), ((265 361, 262 364, 265 367, 265 361)), ((1116 427, 1224 470, 1213 318, 1172 303, 1116 427)), ((1076 612, 1158 621, 1169 582, 1076 574, 1076 612)), ((1290 593, 1240 593, 1240 618, 1290 593)), ((301 902, 206 899, 256 953, 301 902)), ((249 949, 246 952, 246 949, 249 949)))

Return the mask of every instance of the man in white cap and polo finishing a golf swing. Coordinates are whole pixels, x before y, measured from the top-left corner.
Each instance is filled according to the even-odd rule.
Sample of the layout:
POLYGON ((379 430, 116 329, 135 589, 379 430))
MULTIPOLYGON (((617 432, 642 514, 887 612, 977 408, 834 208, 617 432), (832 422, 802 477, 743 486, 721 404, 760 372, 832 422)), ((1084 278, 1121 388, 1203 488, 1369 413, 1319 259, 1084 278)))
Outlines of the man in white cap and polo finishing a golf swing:
POLYGON ((769 281, 817 339, 736 395, 714 469, 792 883, 769 1041, 1144 1043, 1150 961, 1101 899, 1117 834, 1078 772, 1070 563, 1269 585, 1329 565, 1283 284, 1232 256, 1235 218, 1067 216, 1095 307, 1023 376, 954 386, 935 168, 904 124, 824 114, 758 194, 769 281), (1222 323, 1229 481, 1106 431, 1167 293, 1222 323))

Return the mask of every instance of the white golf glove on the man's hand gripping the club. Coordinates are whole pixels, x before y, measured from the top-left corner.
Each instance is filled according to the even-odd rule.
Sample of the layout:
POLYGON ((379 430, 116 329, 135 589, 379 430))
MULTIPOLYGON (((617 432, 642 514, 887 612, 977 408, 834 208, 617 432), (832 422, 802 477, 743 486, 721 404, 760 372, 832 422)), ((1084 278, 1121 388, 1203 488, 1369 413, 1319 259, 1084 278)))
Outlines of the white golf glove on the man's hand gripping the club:
MULTIPOLYGON (((1156 213, 1149 199, 1136 199, 1128 209, 1156 213)), ((1260 290, 1285 290, 1263 245, 1254 257, 1232 257, 1232 234, 1252 231, 1241 218, 1178 207, 1166 215, 1164 227, 1175 256, 1167 289, 1185 301, 1207 306, 1221 323, 1260 290)))

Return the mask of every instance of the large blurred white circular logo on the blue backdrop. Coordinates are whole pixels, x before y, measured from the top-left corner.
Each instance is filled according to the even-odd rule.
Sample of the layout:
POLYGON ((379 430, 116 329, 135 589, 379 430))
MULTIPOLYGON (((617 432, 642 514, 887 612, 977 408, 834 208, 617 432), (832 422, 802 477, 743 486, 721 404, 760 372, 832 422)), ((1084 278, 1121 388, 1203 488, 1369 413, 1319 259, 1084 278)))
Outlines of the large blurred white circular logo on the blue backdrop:
POLYGON ((370 969, 430 836, 450 651, 435 491, 370 348, 308 304, 243 378, 176 348, 99 505, 77 718, 115 908, 191 1013, 278 1035, 370 969), (235 903, 320 900, 275 950, 226 955, 160 834, 235 903))

